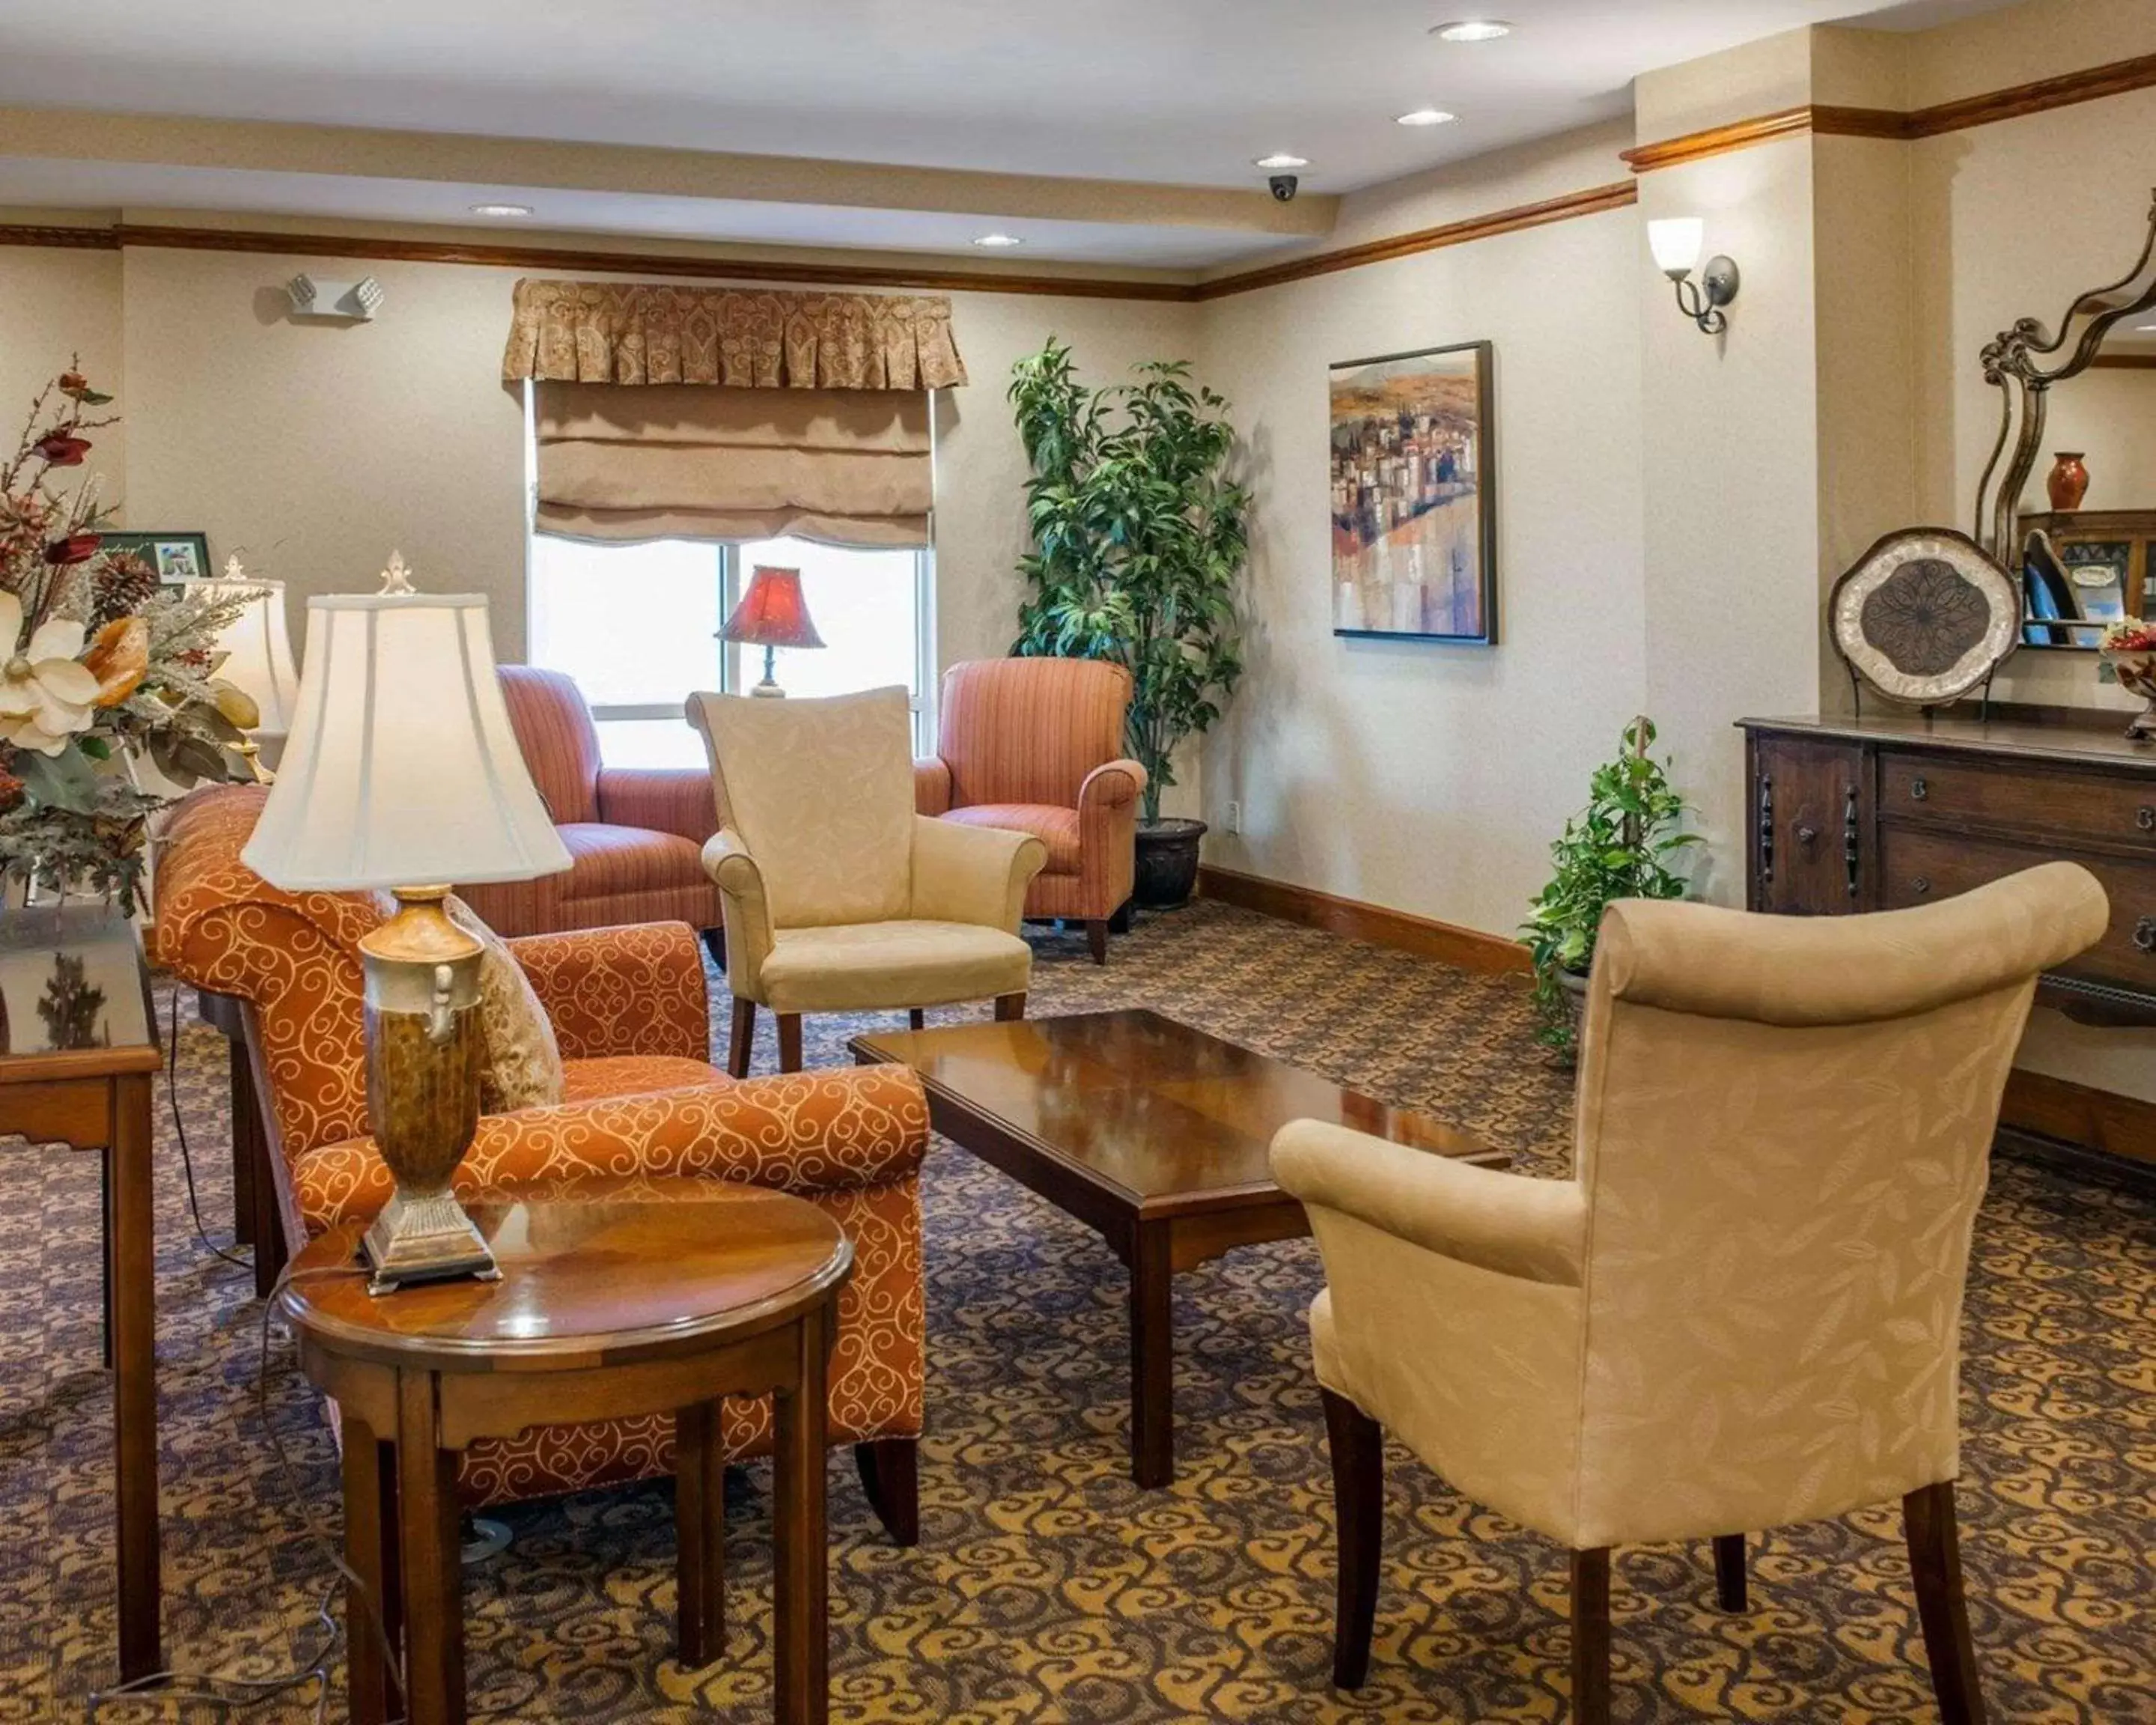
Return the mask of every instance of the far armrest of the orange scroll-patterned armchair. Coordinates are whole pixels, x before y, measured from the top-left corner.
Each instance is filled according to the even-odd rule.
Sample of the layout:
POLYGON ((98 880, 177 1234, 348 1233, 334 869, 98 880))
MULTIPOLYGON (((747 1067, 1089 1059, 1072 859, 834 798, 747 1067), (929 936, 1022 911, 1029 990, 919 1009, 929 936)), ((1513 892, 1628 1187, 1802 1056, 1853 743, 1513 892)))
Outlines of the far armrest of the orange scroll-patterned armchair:
POLYGON ((688 923, 528 934, 507 942, 571 1061, 711 1059, 703 947, 688 923))

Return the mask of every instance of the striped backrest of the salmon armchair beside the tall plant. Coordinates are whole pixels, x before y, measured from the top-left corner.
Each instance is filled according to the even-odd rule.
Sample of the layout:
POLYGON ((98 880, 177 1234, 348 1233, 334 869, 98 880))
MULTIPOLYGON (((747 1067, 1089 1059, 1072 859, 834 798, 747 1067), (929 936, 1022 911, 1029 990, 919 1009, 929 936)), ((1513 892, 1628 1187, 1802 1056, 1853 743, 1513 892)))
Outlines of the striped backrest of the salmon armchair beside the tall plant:
POLYGON ((1123 755, 1130 673, 1102 660, 975 660, 942 679, 936 753, 951 806, 1078 806, 1078 787, 1123 755))

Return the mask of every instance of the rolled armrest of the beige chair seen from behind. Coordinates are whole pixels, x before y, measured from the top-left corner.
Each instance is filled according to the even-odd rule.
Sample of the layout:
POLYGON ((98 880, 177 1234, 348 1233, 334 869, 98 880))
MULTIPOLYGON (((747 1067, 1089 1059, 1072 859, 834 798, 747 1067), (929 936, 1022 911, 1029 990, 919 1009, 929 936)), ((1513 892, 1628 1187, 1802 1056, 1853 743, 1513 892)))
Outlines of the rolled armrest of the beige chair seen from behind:
POLYGON ((1354 1216, 1440 1257, 1580 1285, 1587 1195, 1576 1179, 1477 1169, 1315 1119, 1274 1134, 1272 1177, 1311 1208, 1354 1216))

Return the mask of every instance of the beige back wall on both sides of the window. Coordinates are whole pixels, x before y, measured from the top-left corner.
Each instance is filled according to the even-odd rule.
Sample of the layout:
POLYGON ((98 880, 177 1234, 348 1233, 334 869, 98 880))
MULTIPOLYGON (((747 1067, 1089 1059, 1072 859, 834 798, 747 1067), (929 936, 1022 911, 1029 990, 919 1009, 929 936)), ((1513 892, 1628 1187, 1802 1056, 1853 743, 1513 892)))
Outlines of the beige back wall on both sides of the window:
MULTIPOLYGON (((524 653, 524 410, 500 382, 517 272, 364 265, 371 323, 295 323, 282 282, 319 259, 0 248, 0 403, 75 347, 121 392, 132 440, 97 451, 136 528, 203 528, 293 591, 367 589, 392 548, 427 586, 481 591, 496 651, 524 653), (123 364, 125 347, 125 364, 123 364)), ((356 267, 349 272, 356 274, 356 267)), ((972 384, 938 403, 938 662, 1000 656, 1018 625, 1024 451, 1003 399, 1050 334, 1097 382, 1190 358, 1197 306, 951 295, 972 384)), ((121 427, 114 427, 119 431, 121 427)), ((1184 787, 1194 806, 1194 761, 1184 787)))

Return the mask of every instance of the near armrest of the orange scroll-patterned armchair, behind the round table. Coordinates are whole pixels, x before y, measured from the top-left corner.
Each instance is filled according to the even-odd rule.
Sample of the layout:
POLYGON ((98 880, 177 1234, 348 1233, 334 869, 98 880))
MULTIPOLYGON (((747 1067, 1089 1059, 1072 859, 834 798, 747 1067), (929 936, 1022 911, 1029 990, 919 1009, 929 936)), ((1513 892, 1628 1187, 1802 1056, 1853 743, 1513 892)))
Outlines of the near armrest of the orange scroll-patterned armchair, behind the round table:
MULTIPOLYGON (((927 1147, 927 1098, 908 1067, 830 1067, 481 1115, 453 1184, 472 1197, 567 1182, 573 1195, 576 1179, 604 1173, 849 1192, 914 1179, 927 1147)), ((390 1201, 390 1171, 373 1138, 310 1151, 295 1173, 308 1231, 390 1201)))

